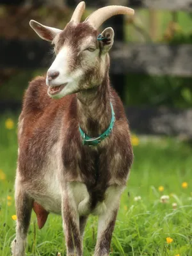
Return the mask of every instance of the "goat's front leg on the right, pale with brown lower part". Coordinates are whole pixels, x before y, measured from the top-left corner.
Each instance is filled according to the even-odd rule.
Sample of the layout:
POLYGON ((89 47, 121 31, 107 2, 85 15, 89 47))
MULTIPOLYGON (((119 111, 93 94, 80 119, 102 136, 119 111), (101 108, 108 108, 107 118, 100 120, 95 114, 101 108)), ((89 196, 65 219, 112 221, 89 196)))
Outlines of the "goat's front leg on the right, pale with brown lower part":
POLYGON ((99 215, 95 256, 109 255, 111 238, 120 203, 120 195, 123 190, 123 186, 111 186, 106 191, 106 199, 104 200, 106 211, 99 215))

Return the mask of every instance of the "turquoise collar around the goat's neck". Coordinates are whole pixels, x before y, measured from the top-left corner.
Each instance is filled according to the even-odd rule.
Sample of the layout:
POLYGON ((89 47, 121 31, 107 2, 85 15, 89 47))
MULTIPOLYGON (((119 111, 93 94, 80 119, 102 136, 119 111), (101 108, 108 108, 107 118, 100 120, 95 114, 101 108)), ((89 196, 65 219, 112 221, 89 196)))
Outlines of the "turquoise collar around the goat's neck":
MULTIPOLYGON (((110 102, 110 104, 111 104, 111 102, 110 102)), ((106 131, 104 131, 102 134, 100 134, 97 138, 92 138, 92 137, 88 136, 79 126, 79 132, 83 139, 83 145, 88 145, 88 146, 99 145, 100 141, 104 140, 106 137, 109 136, 109 134, 113 130, 114 123, 115 123, 115 113, 113 111, 113 105, 111 104, 111 122, 109 124, 109 127, 108 127, 108 129, 106 129, 106 131)))

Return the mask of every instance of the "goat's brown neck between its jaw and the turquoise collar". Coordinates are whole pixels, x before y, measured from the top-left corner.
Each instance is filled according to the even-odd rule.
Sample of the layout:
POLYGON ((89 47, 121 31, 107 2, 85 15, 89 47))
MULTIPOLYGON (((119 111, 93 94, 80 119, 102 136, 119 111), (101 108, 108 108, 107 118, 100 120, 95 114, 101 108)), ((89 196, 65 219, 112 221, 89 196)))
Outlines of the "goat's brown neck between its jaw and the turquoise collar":
POLYGON ((96 137, 108 129, 111 121, 109 78, 99 86, 77 94, 79 125, 88 136, 96 137))

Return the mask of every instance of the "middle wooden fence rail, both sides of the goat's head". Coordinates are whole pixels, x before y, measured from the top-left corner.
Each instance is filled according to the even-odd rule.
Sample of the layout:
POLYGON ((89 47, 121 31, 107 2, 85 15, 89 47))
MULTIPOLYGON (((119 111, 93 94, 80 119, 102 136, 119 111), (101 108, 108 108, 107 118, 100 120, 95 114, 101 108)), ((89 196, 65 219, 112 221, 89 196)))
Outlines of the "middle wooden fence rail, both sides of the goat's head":
MULTIPOLYGON (((46 68, 51 45, 41 40, 0 40, 0 68, 46 68)), ((124 44, 111 51, 111 74, 192 76, 192 45, 124 44)))

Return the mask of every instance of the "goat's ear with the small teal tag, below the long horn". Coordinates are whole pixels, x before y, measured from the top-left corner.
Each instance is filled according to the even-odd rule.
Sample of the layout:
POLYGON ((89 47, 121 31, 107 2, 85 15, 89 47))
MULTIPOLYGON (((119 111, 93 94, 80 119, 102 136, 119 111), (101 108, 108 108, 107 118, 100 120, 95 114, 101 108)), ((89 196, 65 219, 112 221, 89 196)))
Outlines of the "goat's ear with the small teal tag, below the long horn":
POLYGON ((113 28, 104 29, 104 31, 102 31, 102 33, 100 35, 101 35, 101 37, 104 38, 103 40, 100 40, 101 45, 102 45, 102 52, 106 53, 113 46, 114 35, 115 35, 113 28))

